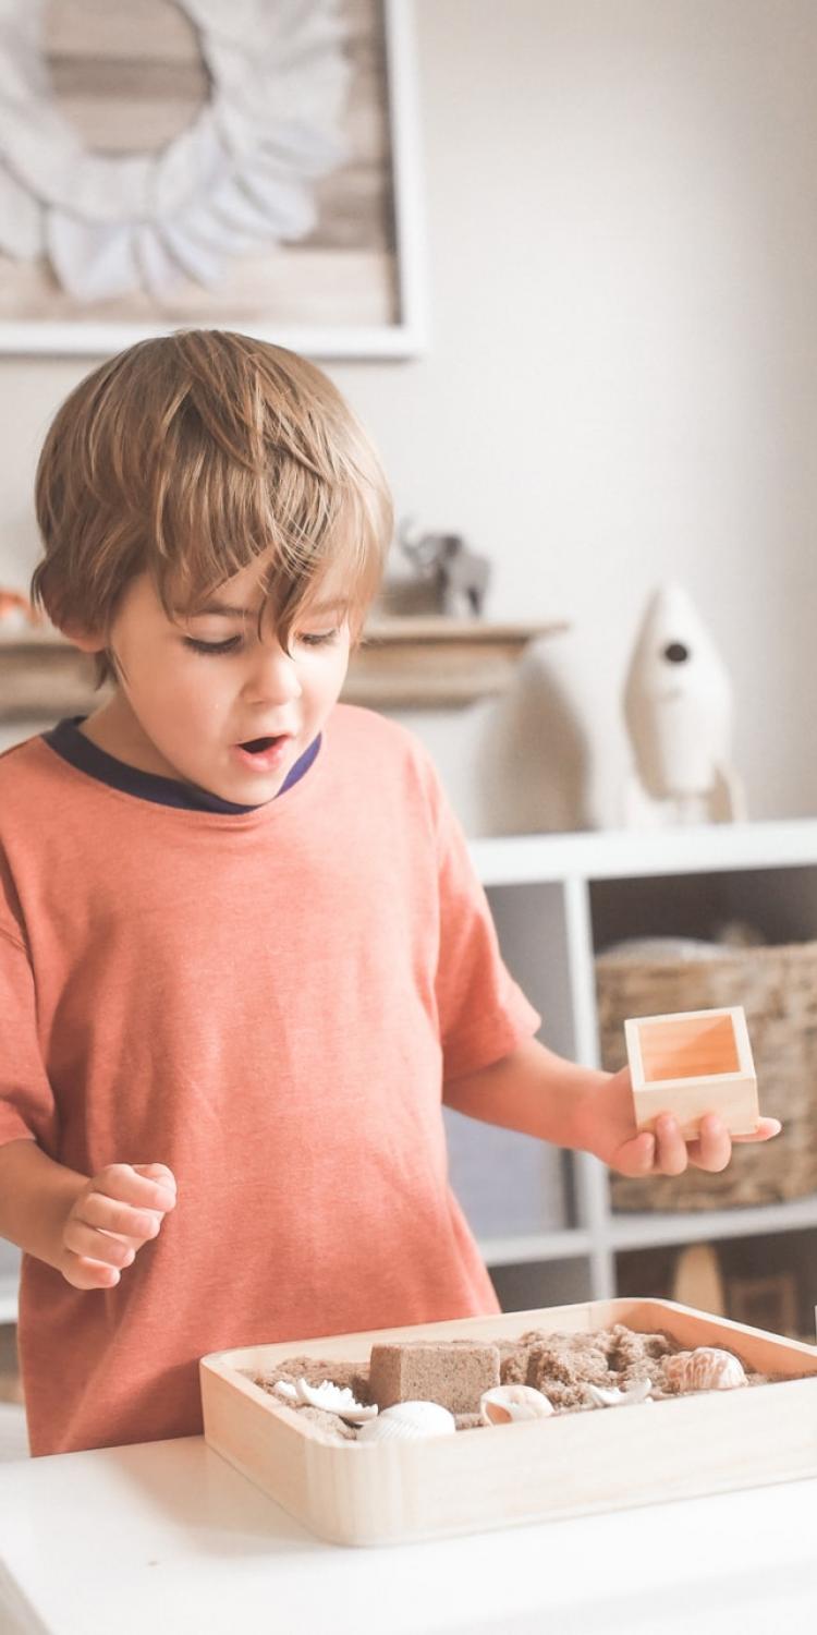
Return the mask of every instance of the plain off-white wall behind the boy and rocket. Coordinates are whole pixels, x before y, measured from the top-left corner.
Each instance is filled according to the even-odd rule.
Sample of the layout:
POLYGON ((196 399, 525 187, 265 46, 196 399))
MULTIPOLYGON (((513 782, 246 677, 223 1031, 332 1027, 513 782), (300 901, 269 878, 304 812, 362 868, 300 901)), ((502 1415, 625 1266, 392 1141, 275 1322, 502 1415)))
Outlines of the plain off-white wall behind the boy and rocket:
MULTIPOLYGON (((691 592, 755 818, 817 803, 817 7, 417 0, 433 338, 332 374, 400 512, 565 616, 511 700, 412 716, 469 829, 613 822, 642 605, 691 592)), ((0 363, 0 579, 82 361, 0 363)))

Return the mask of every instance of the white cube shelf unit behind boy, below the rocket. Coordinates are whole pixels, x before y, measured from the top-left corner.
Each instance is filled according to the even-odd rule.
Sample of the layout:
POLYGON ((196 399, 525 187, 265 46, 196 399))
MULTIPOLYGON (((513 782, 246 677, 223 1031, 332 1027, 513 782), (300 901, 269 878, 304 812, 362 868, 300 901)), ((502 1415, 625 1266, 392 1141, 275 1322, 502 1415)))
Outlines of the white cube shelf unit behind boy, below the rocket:
MULTIPOLYGON (((598 1064, 595 955, 603 947, 641 935, 706 938, 732 919, 758 925, 770 943, 817 938, 817 822, 810 819, 508 835, 472 840, 471 855, 505 960, 542 1014, 542 1040, 588 1066, 598 1064)), ((544 1197, 536 1202, 531 1153, 526 1172, 520 1166, 515 1174, 511 1164, 508 1180, 507 1133, 471 1125, 466 1161, 459 1130, 449 1131, 453 1179, 489 1265, 529 1264, 533 1270, 534 1262, 560 1262, 560 1298, 614 1297, 616 1254, 626 1249, 817 1228, 817 1195, 758 1208, 614 1215, 608 1172, 595 1158, 554 1154, 511 1136, 541 1153, 544 1197), (520 1228, 525 1185, 529 1225, 520 1228)))

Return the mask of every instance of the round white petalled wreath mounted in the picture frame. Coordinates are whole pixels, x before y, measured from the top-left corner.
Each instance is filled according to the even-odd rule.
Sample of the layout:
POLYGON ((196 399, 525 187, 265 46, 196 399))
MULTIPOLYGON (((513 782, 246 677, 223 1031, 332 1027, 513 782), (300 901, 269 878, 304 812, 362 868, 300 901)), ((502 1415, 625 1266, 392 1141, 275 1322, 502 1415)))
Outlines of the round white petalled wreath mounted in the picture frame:
POLYGON ((211 95, 158 154, 88 150, 54 103, 44 0, 0 0, 0 250, 47 257, 80 302, 180 278, 217 284, 230 257, 302 239, 310 183, 345 159, 348 83, 337 0, 175 0, 211 95))

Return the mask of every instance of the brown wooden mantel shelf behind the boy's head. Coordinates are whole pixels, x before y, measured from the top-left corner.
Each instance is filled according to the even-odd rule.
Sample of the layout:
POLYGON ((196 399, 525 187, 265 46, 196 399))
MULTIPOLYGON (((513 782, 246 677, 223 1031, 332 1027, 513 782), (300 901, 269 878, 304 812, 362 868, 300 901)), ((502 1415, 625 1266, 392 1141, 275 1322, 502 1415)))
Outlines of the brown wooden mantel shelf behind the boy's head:
MULTIPOLYGON (((505 623, 441 616, 373 620, 353 652, 346 703, 381 710, 451 708, 503 693, 529 641, 565 623, 505 623)), ((54 633, 0 638, 0 721, 87 714, 103 695, 87 654, 54 633)))

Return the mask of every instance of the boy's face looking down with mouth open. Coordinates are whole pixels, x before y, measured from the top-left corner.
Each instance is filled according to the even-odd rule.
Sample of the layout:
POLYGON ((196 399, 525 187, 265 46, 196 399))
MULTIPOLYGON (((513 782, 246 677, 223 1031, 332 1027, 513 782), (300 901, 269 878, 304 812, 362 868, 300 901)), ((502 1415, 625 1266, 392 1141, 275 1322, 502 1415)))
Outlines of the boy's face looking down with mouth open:
POLYGON ((266 615, 258 636, 261 605, 252 564, 203 611, 173 621, 141 574, 105 641, 118 690, 85 723, 87 736, 129 765, 222 800, 247 806, 273 800, 338 698, 350 631, 327 585, 296 621, 286 652, 266 615))

